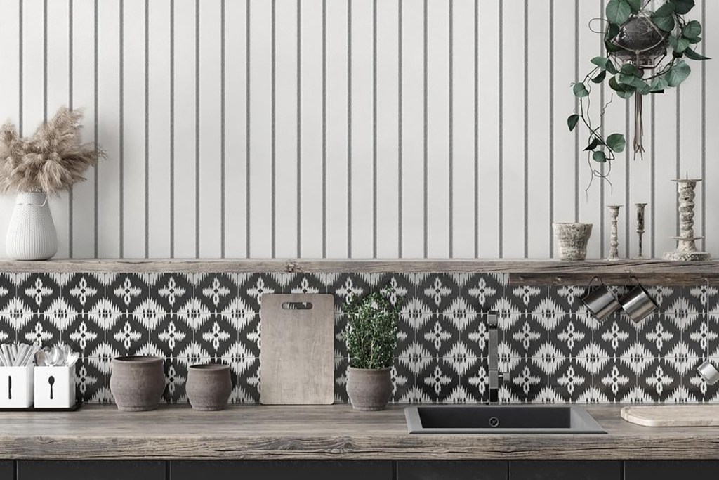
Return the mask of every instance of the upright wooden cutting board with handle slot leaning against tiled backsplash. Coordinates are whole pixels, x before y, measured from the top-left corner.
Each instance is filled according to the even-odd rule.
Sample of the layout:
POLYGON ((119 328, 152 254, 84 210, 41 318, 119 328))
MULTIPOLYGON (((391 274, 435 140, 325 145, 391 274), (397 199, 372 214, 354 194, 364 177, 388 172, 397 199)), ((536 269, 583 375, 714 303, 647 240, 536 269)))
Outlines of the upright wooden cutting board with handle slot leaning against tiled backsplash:
POLYGON ((260 403, 334 402, 332 295, 263 295, 260 331, 260 403))

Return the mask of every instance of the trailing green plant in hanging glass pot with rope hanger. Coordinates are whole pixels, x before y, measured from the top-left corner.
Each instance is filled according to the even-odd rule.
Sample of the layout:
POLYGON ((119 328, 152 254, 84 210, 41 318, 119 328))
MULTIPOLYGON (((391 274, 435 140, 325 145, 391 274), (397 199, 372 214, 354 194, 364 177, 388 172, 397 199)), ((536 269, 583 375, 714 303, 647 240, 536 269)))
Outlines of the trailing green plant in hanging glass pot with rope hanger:
MULTIPOLYGON (((580 122, 588 130, 587 148, 591 160, 605 164, 626 148, 621 133, 607 137, 602 122, 592 122, 590 94, 592 86, 608 83, 620 99, 635 98, 634 155, 644 153, 642 144, 642 99, 645 95, 661 94, 679 86, 692 69, 685 59, 709 60, 697 52, 702 41, 702 24, 687 22, 684 15, 695 6, 695 0, 667 0, 652 12, 650 0, 610 0, 605 9, 605 57, 592 58, 594 65, 584 80, 572 83, 574 96, 579 99, 579 111, 569 115, 567 125, 573 131, 580 122)), ((601 106, 600 117, 606 107, 601 106)), ((591 165, 590 160, 590 165, 591 165)), ((610 164, 609 164, 610 165, 610 164)), ((592 177, 605 178, 592 168, 592 177)))

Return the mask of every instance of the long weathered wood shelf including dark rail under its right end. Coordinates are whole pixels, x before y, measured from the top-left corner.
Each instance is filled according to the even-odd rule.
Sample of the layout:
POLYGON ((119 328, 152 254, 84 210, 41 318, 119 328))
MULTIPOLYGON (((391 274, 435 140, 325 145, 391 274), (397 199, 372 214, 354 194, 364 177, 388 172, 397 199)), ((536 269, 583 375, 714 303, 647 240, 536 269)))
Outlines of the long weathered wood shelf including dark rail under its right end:
POLYGON ((599 277, 608 284, 719 284, 719 261, 661 260, 492 260, 492 259, 124 259, 0 261, 0 271, 12 272, 484 272, 508 273, 511 284, 585 284, 599 277))

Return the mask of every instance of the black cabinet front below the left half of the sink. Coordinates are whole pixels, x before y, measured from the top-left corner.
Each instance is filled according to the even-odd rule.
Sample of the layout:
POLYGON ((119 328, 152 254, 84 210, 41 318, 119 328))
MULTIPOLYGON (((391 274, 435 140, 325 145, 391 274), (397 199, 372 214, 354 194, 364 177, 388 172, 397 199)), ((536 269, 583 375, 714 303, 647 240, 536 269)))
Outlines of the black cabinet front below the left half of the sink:
POLYGON ((507 462, 400 461, 397 480, 507 480, 507 462))

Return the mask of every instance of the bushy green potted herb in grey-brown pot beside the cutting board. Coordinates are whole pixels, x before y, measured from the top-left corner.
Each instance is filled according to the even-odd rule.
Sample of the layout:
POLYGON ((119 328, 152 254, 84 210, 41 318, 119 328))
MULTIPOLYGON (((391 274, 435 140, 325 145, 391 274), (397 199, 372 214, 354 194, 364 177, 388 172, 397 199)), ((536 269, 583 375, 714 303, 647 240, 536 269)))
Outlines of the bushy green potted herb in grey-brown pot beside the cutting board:
POLYGON ((350 296, 344 342, 349 354, 347 395, 355 410, 383 410, 392 394, 392 362, 397 348, 400 301, 388 298, 391 290, 375 291, 364 298, 350 296))

